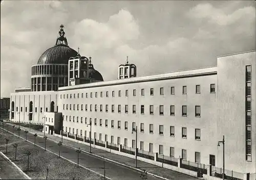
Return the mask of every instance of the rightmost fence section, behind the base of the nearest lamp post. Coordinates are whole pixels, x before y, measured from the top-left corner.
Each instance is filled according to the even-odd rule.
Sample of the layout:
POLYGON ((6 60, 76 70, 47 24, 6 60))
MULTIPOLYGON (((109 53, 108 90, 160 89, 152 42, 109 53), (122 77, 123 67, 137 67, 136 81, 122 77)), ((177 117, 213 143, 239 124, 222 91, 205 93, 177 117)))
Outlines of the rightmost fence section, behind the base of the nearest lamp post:
MULTIPOLYGON (((215 177, 223 177, 223 169, 215 166, 211 166, 211 175, 215 177)), ((225 179, 228 180, 243 180, 244 174, 236 171, 225 170, 225 179)))

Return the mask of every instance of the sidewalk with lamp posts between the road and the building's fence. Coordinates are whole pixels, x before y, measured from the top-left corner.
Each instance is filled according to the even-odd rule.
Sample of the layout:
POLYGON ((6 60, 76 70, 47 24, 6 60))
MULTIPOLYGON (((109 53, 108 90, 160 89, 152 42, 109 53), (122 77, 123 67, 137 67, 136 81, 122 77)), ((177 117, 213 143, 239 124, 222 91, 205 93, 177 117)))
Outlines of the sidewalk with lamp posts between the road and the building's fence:
MULTIPOLYGON (((29 128, 24 127, 22 125, 20 125, 20 128, 24 131, 25 130, 29 131, 29 128)), ((33 129, 31 129, 30 133, 32 133, 32 134, 36 133, 38 136, 41 136, 41 137, 44 136, 44 132, 39 132, 39 131, 36 131, 36 130, 33 130, 33 129)), ((59 138, 59 137, 49 135, 49 134, 46 134, 46 136, 48 137, 49 140, 55 141, 56 143, 61 141, 61 138, 59 138)), ((72 148, 80 147, 80 149, 82 151, 90 153, 89 152, 90 151, 90 146, 88 146, 88 145, 76 143, 76 142, 66 140, 66 139, 62 139, 62 142, 63 142, 63 145, 67 145, 67 146, 70 146, 72 148)), ((132 169, 136 169, 135 168, 135 159, 120 156, 120 155, 116 155, 114 153, 111 153, 111 152, 108 152, 108 151, 105 151, 105 150, 102 150, 102 149, 97 149, 97 148, 94 148, 94 147, 91 148, 91 151, 92 151, 93 156, 97 156, 99 158, 104 157, 106 161, 112 161, 114 163, 129 167, 129 168, 132 168, 132 169)), ((187 180, 198 179, 196 177, 192 177, 192 176, 189 176, 187 174, 182 174, 182 173, 179 173, 179 172, 176 172, 176 171, 165 169, 165 168, 155 166, 155 165, 152 165, 152 164, 148 164, 148 163, 138 161, 138 160, 137 160, 137 169, 136 170, 138 170, 138 171, 146 170, 148 174, 156 176, 156 177, 160 177, 162 179, 187 179, 187 180)))

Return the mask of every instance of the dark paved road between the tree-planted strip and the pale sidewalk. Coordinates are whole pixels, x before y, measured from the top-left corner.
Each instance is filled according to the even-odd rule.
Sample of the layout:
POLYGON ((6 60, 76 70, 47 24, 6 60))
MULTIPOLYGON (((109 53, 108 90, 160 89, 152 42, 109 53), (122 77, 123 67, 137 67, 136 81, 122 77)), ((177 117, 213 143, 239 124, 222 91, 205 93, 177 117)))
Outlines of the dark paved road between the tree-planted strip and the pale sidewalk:
MULTIPOLYGON (((3 127, 3 125, 1 125, 1 127, 3 127)), ((6 125, 5 125, 5 129, 7 129, 6 125)), ((12 128, 9 127, 9 131, 12 132, 12 128)), ((17 128, 14 129, 14 134, 18 135, 17 128)), ((24 131, 20 131, 20 137, 25 138, 24 131)), ((31 142, 34 142, 33 134, 28 133, 27 139, 31 142)), ((36 137, 36 144, 41 147, 45 147, 45 140, 42 137, 36 137)), ((51 140, 47 140, 46 148, 58 154, 59 147, 57 143, 51 140)), ((70 148, 67 146, 61 146, 60 156, 77 163, 77 153, 73 148, 70 148)), ((103 160, 101 158, 97 158, 95 156, 89 155, 88 153, 84 153, 84 152, 80 153, 79 165, 82 165, 83 167, 91 169, 97 173, 104 174, 103 160)), ((106 176, 111 179, 141 180, 140 172, 115 164, 113 162, 105 161, 105 168, 107 168, 106 176)), ((161 179, 161 178, 153 177, 150 175, 147 176, 147 180, 156 180, 156 179, 161 179)))

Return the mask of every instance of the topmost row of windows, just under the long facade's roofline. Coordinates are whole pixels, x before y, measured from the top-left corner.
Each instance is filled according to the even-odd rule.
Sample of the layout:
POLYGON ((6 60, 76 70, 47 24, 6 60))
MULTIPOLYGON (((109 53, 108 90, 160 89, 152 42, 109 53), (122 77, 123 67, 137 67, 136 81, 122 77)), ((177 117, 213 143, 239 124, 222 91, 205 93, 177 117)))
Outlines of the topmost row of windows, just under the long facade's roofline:
MULTIPOLYGON (((201 86, 196 85, 196 93, 201 93, 201 86)), ((215 93, 215 84, 210 84, 210 93, 215 93)), ((144 96, 145 89, 141 89, 141 96, 144 96)), ((170 94, 175 94, 175 87, 170 87, 170 94)), ((187 86, 182 87, 182 94, 187 94, 187 86)), ((65 97, 68 99, 69 97, 72 98, 72 94, 63 94, 63 99, 65 97)), ((127 97, 129 95, 129 90, 125 90, 125 96, 127 97)), ((137 95, 136 89, 133 90, 133 96, 137 95)), ((154 95, 154 88, 150 88, 150 95, 154 95)), ((160 95, 164 95, 164 88, 160 88, 160 95)), ((90 93, 90 97, 93 97, 93 93, 90 93)), ((95 92, 95 97, 98 97, 98 92, 95 92)), ((100 92, 100 97, 103 97, 103 92, 100 92)), ((105 92, 105 97, 109 97, 109 91, 105 92)), ((115 97, 115 91, 112 91, 112 97, 115 97)), ((121 97, 121 90, 118 91, 118 97, 121 97)), ((60 94, 60 98, 62 98, 62 94, 60 94)), ((76 94, 73 94, 73 98, 76 98, 76 94)), ((77 98, 79 98, 79 93, 77 93, 77 98)), ((83 98, 83 93, 81 93, 81 98, 83 98)), ((88 93, 86 93, 86 98, 88 98, 88 93)))

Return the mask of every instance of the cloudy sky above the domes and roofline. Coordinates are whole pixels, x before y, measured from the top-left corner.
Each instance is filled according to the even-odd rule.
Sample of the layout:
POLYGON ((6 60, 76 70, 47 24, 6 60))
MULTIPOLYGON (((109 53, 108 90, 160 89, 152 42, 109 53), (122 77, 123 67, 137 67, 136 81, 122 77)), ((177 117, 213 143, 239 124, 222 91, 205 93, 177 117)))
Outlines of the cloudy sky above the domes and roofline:
POLYGON ((1 1, 1 97, 30 87, 60 24, 104 81, 118 78, 127 56, 142 76, 256 49, 255 1, 1 1))

